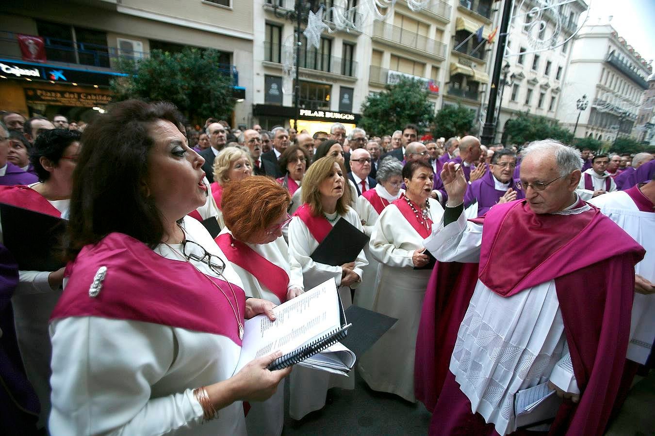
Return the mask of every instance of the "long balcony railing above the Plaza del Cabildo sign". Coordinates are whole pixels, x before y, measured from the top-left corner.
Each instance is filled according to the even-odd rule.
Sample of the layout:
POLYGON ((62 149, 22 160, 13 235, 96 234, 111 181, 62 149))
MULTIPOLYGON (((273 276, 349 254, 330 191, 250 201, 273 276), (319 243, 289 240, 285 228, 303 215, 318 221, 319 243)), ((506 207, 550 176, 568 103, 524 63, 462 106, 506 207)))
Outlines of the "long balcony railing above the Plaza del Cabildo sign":
MULTIPOLYGON (((17 61, 22 59, 16 35, 13 32, 0 31, 0 57, 16 59, 17 61)), ((119 59, 138 61, 150 56, 150 52, 121 50, 117 47, 69 41, 43 35, 41 37, 45 42, 47 63, 51 65, 61 65, 63 67, 85 65, 86 67, 113 71, 119 59)), ((238 86, 238 71, 235 65, 219 63, 217 68, 222 73, 232 76, 233 85, 238 86)))

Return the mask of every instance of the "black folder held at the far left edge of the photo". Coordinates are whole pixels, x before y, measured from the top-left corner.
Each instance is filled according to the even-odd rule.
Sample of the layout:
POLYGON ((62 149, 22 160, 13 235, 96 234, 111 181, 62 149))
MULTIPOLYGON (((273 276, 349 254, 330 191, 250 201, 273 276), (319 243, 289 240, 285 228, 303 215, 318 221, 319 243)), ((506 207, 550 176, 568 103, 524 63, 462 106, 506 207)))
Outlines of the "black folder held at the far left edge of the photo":
POLYGON ((34 210, 0 203, 3 239, 23 271, 57 271, 65 266, 66 221, 34 210))

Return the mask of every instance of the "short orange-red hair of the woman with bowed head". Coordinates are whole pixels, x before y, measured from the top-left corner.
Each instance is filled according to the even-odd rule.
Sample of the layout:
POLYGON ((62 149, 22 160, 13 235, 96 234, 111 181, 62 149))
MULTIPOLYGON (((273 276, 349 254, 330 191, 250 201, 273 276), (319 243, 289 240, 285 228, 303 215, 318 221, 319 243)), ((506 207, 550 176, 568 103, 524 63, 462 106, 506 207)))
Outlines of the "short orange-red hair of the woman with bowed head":
POLYGON ((234 238, 248 242, 248 236, 271 227, 289 203, 289 192, 270 177, 234 180, 223 187, 223 221, 234 238))

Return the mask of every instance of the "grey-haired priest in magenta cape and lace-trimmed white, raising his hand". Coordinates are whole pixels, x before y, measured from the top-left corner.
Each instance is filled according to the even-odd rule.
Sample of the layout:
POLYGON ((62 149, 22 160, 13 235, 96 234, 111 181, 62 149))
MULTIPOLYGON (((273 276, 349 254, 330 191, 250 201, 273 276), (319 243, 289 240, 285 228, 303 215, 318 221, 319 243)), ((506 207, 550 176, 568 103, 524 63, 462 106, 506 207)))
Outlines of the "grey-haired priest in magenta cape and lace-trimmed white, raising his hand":
POLYGON ((447 207, 424 241, 440 263, 424 299, 433 311, 422 314, 415 373, 417 396, 434 405, 430 434, 506 435, 555 415, 554 434, 604 433, 644 250, 576 194, 581 166, 574 148, 536 141, 523 152, 525 199, 467 221, 464 173, 444 165, 447 207), (580 250, 599 241, 612 243, 580 250), (436 301, 459 309, 434 313, 436 301), (543 392, 534 399, 554 390, 569 404, 546 402, 534 419, 520 401, 529 388, 543 392))

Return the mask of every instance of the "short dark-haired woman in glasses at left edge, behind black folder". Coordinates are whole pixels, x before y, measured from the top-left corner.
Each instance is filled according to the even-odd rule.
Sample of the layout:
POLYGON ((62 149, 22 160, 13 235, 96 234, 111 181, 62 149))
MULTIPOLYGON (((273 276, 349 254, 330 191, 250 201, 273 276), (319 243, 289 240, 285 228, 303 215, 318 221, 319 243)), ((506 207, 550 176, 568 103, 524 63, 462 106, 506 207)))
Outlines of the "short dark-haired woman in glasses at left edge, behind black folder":
MULTIPOLYGON (((73 170, 80 151, 80 134, 64 129, 47 130, 35 141, 31 163, 39 182, 27 186, 0 186, 0 202, 64 218, 70 205, 73 170)), ((5 228, 4 234, 24 234, 29 229, 5 228)), ((16 337, 24 367, 41 403, 39 428, 45 426, 50 410, 50 337, 48 320, 62 293, 64 268, 57 271, 20 271, 14 290, 16 337)))

